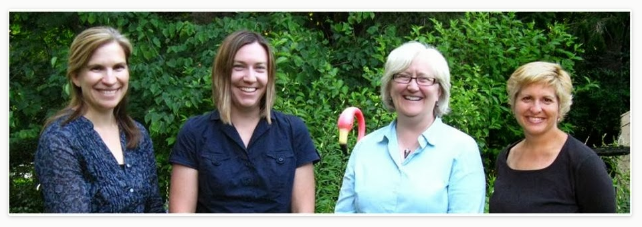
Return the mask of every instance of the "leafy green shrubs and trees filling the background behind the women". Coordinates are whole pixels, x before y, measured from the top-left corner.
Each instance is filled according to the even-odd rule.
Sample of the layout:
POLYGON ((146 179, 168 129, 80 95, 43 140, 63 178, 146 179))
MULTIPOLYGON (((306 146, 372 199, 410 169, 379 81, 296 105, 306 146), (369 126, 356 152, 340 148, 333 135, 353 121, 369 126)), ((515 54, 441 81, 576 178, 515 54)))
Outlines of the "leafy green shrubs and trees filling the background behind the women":
MULTIPOLYGON (((301 117, 322 155, 321 213, 333 212, 347 160, 338 115, 359 107, 368 132, 394 119, 381 106, 379 78, 403 42, 432 44, 448 59, 452 112, 444 121, 477 140, 489 194, 496 154, 522 137, 505 91, 518 66, 544 60, 571 73, 574 104, 560 127, 591 147, 617 145, 620 115, 630 109, 629 12, 10 12, 9 21, 10 213, 43 211, 32 163, 38 134, 68 101, 68 48, 91 26, 116 27, 134 45, 130 112, 150 131, 165 199, 176 134, 188 117, 212 110, 212 60, 237 29, 261 32, 274 47, 275 109, 301 117)), ((612 167, 618 157, 604 160, 618 212, 629 213, 628 169, 612 167)))

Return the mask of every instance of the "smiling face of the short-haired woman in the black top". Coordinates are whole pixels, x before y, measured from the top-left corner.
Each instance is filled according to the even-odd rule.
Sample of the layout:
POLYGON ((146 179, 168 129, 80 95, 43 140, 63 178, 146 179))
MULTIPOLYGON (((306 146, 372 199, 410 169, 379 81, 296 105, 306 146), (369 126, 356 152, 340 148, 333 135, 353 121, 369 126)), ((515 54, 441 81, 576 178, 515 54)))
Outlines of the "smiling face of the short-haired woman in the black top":
POLYGON ((559 101, 553 87, 535 83, 524 86, 515 97, 513 112, 527 135, 542 135, 557 129, 559 101))

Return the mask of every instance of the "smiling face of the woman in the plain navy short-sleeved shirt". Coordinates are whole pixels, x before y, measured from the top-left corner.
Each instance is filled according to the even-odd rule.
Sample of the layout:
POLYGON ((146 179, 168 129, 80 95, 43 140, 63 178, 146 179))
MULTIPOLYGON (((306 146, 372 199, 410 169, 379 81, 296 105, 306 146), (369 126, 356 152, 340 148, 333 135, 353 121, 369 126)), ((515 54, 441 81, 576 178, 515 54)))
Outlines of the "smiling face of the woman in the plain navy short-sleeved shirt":
POLYGON ((257 42, 236 52, 232 68, 232 103, 236 111, 259 111, 268 82, 266 50, 257 42))

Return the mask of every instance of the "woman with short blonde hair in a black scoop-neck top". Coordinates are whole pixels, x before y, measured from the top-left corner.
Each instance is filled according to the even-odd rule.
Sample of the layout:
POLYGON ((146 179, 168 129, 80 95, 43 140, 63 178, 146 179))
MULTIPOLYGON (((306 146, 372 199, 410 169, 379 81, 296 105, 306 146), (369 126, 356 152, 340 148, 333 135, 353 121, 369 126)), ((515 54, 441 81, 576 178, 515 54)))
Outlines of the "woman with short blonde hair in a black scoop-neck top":
POLYGON ((572 103, 570 76, 560 65, 531 62, 507 84, 524 131, 497 157, 490 213, 614 213, 615 190, 595 152, 557 127, 572 103))

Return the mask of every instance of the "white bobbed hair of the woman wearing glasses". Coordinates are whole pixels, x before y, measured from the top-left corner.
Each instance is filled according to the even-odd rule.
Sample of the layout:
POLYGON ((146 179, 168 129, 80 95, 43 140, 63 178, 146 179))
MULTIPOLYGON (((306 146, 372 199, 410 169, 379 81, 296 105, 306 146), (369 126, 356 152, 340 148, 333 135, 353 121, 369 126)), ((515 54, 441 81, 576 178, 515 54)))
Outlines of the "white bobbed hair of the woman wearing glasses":
POLYGON ((448 68, 446 58, 435 47, 428 44, 410 41, 390 52, 388 60, 386 60, 383 77, 381 77, 381 100, 388 111, 393 112, 396 110, 390 96, 392 77, 410 67, 412 60, 416 57, 425 57, 430 62, 436 83, 439 84, 439 89, 441 90, 441 96, 437 100, 437 106, 435 107, 435 116, 441 117, 450 111, 448 108, 450 101, 450 68, 448 68))

